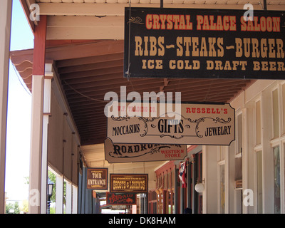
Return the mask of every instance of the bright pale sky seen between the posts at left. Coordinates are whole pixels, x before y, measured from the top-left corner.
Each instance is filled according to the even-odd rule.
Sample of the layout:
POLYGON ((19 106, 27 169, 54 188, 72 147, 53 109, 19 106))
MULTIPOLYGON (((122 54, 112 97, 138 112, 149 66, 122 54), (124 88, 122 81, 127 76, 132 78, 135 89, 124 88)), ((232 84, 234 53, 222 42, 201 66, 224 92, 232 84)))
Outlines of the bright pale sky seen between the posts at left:
MULTIPOLYGON (((10 50, 30 48, 33 48, 33 33, 20 1, 13 0, 10 50)), ((10 61, 5 182, 8 203, 28 199, 24 177, 29 176, 30 135, 31 93, 10 61)))

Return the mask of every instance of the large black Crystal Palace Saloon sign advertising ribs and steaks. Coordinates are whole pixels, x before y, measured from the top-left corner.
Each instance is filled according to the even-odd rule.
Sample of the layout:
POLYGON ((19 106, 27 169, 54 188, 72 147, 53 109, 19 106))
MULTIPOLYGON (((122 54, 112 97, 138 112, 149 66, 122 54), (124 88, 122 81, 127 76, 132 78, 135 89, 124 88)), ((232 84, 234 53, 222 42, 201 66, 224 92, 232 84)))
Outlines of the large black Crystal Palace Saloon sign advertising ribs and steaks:
POLYGON ((284 22, 283 11, 125 8, 124 76, 284 79, 284 22))

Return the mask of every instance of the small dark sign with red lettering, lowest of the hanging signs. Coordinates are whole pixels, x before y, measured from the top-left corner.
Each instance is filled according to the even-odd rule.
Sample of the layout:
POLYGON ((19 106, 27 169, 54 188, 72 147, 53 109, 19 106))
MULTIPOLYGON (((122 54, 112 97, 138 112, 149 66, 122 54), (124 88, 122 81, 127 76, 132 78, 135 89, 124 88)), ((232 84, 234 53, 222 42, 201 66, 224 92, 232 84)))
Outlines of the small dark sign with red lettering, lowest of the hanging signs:
POLYGON ((106 192, 106 204, 108 205, 135 205, 137 195, 134 193, 120 194, 106 192))

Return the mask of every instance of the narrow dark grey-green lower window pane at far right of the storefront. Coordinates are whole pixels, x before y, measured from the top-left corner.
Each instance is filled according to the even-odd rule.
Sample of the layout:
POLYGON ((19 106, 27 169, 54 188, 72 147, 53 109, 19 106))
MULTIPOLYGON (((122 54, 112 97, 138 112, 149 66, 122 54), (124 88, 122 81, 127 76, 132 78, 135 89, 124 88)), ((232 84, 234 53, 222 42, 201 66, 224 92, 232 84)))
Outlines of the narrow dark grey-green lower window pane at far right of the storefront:
POLYGON ((274 214, 280 214, 280 152, 274 147, 274 214))

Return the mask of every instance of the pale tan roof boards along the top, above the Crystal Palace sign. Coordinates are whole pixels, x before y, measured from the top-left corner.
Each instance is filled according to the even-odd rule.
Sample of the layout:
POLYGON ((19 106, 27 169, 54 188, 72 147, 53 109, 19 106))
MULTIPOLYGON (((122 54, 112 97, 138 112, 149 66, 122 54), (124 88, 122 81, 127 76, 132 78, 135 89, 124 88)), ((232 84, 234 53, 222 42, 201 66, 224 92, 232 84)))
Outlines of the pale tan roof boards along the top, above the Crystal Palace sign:
MULTIPOLYGON (((285 1, 267 0, 268 10, 285 10, 285 1)), ((123 39, 125 7, 160 7, 160 0, 21 0, 32 30, 32 4, 38 4, 39 14, 48 16, 47 39, 123 39), (31 9, 30 9, 31 8, 31 9)), ((164 0, 165 8, 244 9, 244 4, 264 9, 264 1, 243 0, 164 0)))

